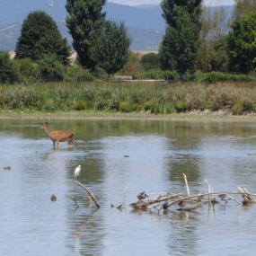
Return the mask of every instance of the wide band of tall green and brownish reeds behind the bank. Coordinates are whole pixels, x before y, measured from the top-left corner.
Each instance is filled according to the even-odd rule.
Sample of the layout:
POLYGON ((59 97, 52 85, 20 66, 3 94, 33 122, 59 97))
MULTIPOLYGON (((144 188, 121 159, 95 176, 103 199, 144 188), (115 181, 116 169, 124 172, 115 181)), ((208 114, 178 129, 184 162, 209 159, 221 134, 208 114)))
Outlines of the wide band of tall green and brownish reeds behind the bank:
POLYGON ((191 83, 49 83, 0 86, 4 110, 148 111, 168 114, 186 110, 256 110, 256 87, 191 83))

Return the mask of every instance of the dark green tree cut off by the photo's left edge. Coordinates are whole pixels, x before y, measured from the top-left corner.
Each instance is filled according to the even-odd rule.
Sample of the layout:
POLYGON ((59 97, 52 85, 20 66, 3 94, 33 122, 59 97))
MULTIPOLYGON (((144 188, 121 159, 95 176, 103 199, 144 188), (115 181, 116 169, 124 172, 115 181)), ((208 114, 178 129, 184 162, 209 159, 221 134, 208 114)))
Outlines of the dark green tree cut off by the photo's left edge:
POLYGON ((0 83, 8 84, 10 81, 10 69, 12 67, 12 61, 10 59, 9 52, 6 50, 0 50, 0 83))

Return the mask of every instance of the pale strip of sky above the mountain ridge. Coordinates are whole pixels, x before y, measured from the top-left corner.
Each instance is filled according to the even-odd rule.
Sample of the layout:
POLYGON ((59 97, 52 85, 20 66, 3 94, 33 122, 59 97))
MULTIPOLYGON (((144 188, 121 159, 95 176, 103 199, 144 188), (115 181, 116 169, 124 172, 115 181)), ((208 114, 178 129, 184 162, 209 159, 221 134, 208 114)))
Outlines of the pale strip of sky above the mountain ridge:
MULTIPOLYGON (((115 4, 127 4, 127 5, 138 5, 138 4, 160 4, 161 0, 109 0, 108 2, 115 4)), ((206 5, 232 5, 234 0, 205 0, 206 5), (218 4, 220 3, 220 4, 218 4)))

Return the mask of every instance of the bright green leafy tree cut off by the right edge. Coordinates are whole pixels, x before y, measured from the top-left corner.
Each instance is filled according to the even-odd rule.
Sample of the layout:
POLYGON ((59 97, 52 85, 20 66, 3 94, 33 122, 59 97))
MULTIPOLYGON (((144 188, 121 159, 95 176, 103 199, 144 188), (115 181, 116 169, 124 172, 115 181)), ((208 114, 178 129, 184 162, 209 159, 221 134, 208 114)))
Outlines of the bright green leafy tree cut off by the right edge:
POLYGON ((248 73, 256 67, 256 12, 236 19, 227 35, 227 54, 231 71, 248 73))

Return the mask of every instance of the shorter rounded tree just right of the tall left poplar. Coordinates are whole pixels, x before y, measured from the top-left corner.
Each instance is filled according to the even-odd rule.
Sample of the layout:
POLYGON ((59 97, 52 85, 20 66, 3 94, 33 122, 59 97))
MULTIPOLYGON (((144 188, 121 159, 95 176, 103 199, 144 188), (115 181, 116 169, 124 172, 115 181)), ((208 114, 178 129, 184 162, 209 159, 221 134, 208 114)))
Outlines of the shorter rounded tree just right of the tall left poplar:
POLYGON ((102 35, 93 51, 93 59, 107 74, 112 75, 128 62, 131 39, 124 22, 105 22, 102 35))

